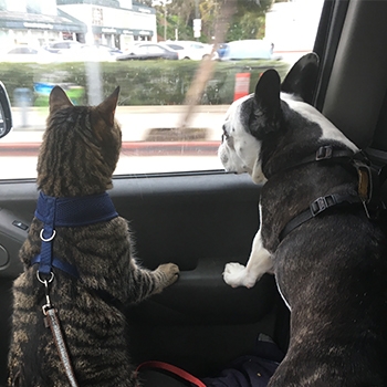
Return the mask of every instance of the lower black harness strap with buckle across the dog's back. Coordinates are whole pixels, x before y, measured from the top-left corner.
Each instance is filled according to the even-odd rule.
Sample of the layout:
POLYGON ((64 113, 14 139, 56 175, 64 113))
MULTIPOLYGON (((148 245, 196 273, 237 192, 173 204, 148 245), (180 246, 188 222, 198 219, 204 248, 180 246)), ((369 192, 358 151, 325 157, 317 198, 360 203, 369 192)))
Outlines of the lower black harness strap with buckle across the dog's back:
POLYGON ((317 198, 311 202, 310 207, 305 211, 299 213, 287 222, 287 224, 280 232, 280 242, 302 223, 315 218, 325 210, 336 206, 355 203, 362 203, 362 199, 354 195, 333 194, 317 198))

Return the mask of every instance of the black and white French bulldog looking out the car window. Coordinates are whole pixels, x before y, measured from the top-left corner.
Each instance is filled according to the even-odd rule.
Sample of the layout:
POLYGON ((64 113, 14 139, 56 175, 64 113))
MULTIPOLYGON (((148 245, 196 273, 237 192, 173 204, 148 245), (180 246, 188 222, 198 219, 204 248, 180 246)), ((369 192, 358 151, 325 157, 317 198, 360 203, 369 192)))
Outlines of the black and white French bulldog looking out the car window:
POLYGON ((270 387, 386 387, 386 236, 359 198, 359 149, 310 104, 317 67, 307 54, 282 85, 268 70, 229 108, 219 157, 263 187, 250 259, 223 278, 251 287, 273 272, 291 310, 270 387))

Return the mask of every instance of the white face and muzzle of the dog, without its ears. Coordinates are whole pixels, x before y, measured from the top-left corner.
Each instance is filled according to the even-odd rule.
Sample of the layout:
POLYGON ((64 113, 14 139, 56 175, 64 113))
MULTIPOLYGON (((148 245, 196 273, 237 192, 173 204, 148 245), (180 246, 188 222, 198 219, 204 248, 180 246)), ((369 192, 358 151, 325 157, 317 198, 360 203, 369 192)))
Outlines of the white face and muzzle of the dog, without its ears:
POLYGON ((249 108, 253 94, 240 98, 229 107, 223 124, 219 158, 228 172, 248 172, 255 184, 265 182, 261 168, 261 142, 249 133, 249 108))

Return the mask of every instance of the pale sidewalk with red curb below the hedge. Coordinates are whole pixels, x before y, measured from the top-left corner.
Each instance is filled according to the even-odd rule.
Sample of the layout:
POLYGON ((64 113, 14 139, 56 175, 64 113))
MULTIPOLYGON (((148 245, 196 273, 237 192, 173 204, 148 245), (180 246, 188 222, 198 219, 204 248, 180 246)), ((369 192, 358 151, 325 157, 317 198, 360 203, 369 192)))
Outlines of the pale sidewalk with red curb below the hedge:
MULTIPOLYGON (((116 118, 123 132, 123 154, 127 156, 216 155, 228 106, 197 106, 190 127, 185 129, 188 130, 187 136, 182 134, 180 139, 171 142, 170 132, 179 126, 186 108, 181 105, 118 106, 116 118), (192 137, 190 134, 199 134, 199 138, 187 140, 192 137), (156 140, 153 140, 154 138, 156 140)), ((21 109, 13 108, 12 113, 14 128, 8 136, 0 139, 0 156, 36 156, 45 128, 48 107, 29 108, 27 115, 29 126, 25 127, 20 126, 23 118, 21 109)))

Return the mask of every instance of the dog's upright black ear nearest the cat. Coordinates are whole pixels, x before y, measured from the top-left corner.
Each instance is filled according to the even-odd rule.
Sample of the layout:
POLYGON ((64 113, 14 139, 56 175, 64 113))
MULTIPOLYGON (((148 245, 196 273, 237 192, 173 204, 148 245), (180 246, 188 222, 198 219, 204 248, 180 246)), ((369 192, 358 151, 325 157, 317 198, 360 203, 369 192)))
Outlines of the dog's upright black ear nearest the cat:
POLYGON ((250 129, 255 135, 265 135, 280 127, 281 80, 275 70, 266 70, 257 83, 250 129))

